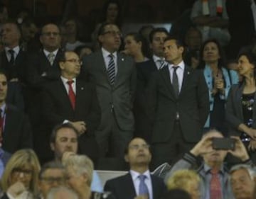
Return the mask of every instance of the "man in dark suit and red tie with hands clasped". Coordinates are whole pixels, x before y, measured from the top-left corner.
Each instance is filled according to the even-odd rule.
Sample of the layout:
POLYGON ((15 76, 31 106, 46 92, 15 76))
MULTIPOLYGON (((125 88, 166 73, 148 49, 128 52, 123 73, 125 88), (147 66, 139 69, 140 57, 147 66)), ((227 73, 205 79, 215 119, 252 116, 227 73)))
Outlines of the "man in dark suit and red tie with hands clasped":
MULTIPOLYGON (((98 148, 95 130, 100 124, 100 106, 95 87, 77 79, 80 74, 80 59, 75 52, 65 52, 60 57, 59 64, 61 76, 48 83, 43 92, 46 132, 50 132, 57 124, 70 123, 80 133, 80 153, 87 154, 96 161, 98 148)), ((43 136, 41 147, 43 145, 49 149, 50 133, 43 136)))

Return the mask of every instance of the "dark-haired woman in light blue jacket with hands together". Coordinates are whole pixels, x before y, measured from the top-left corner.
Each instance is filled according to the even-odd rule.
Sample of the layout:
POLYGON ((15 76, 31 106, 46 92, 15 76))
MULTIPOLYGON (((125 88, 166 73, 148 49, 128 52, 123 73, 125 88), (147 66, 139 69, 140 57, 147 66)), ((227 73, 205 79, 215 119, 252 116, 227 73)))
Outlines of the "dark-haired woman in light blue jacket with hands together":
POLYGON ((225 102, 232 84, 238 83, 238 75, 226 69, 224 52, 218 40, 203 42, 199 56, 198 69, 203 69, 210 106, 210 114, 204 124, 205 131, 215 128, 226 133, 225 102))

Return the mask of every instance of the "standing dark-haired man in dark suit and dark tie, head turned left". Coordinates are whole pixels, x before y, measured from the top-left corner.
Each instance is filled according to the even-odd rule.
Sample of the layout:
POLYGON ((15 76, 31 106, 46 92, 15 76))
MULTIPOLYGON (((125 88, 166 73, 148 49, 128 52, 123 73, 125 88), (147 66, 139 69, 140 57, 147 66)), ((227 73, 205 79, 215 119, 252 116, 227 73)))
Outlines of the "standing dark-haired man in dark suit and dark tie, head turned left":
POLYGON ((203 73, 184 64, 183 45, 166 38, 166 65, 154 73, 147 91, 152 125, 153 167, 187 152, 201 139, 209 112, 208 88, 203 73))

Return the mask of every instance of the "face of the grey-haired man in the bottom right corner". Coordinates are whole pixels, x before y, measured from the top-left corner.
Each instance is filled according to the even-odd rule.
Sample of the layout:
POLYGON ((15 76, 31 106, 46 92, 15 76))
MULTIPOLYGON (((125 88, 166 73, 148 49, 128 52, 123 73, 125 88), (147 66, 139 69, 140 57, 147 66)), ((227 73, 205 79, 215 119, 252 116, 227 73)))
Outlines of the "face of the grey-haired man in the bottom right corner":
POLYGON ((247 170, 238 169, 231 174, 231 186, 236 199, 250 199, 255 187, 247 170))

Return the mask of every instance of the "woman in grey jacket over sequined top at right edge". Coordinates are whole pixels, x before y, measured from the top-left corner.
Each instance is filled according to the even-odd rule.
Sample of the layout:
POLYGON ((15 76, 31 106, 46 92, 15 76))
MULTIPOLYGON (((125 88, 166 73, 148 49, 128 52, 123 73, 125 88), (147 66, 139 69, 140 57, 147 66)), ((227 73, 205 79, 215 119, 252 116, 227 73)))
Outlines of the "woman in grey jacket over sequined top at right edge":
POLYGON ((240 84, 230 89, 226 107, 226 120, 230 125, 230 135, 239 136, 256 163, 256 59, 252 52, 238 55, 238 72, 242 76, 240 84))

